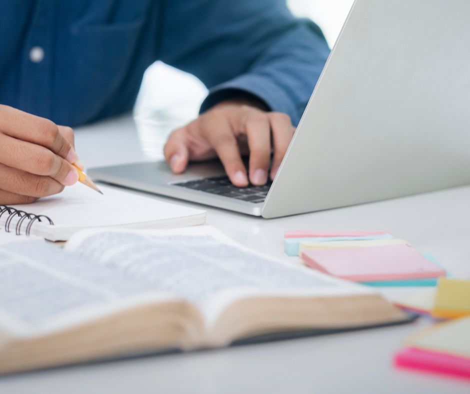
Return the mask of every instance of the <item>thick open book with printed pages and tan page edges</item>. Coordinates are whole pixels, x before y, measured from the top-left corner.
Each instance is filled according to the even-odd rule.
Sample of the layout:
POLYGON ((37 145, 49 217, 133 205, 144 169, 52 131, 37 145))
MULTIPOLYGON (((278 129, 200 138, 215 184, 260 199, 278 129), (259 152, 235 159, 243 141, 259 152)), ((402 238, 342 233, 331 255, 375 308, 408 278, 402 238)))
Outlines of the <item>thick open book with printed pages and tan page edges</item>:
POLYGON ((1 239, 0 373, 409 320, 370 288, 208 226, 85 230, 64 249, 1 239))

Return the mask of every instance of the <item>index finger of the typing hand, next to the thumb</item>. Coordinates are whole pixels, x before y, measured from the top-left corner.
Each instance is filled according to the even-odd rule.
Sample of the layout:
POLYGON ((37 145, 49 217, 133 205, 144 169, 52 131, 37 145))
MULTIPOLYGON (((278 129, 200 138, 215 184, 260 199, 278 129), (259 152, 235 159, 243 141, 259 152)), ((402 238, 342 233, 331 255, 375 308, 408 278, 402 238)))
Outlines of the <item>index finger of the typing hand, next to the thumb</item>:
POLYGON ((238 143, 227 117, 221 114, 200 117, 200 132, 216 151, 230 181, 238 187, 248 185, 246 169, 241 161, 238 143))

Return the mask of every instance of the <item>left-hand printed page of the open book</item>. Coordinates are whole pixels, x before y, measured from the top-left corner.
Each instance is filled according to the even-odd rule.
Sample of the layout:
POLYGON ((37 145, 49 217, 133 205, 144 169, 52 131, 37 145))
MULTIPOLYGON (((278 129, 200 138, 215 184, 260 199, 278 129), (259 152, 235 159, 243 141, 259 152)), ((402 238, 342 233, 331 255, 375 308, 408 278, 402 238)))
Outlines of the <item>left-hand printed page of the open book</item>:
POLYGON ((168 298, 156 294, 146 281, 58 245, 14 235, 0 237, 0 324, 15 334, 38 334, 168 298))

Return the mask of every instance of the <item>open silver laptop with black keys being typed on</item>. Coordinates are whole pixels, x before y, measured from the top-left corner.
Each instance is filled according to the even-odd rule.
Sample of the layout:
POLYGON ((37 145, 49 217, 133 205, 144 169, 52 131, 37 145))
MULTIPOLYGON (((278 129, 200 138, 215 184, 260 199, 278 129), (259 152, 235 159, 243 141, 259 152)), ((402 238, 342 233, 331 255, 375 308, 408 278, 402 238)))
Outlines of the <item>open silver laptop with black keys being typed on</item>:
POLYGON ((272 184, 239 189, 216 161, 88 173, 266 218, 468 184, 468 15, 468 0, 356 0, 272 184))

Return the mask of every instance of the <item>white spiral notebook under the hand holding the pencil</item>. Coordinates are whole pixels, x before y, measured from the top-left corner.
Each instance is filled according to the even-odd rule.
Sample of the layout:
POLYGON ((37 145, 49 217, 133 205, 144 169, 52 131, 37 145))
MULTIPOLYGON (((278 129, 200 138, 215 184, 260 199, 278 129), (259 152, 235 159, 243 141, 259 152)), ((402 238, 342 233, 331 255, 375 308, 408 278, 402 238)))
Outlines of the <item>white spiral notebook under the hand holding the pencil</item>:
POLYGON ((64 241, 84 228, 170 228, 205 222, 204 210, 99 187, 103 195, 77 183, 32 204, 0 205, 0 231, 64 241))

